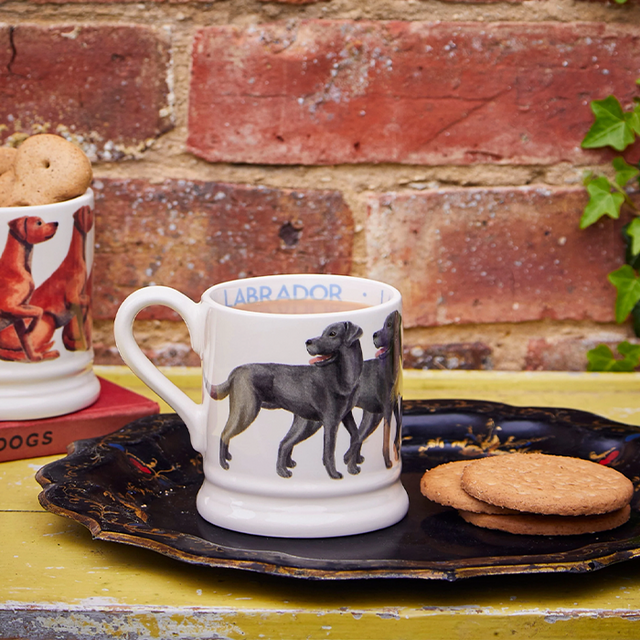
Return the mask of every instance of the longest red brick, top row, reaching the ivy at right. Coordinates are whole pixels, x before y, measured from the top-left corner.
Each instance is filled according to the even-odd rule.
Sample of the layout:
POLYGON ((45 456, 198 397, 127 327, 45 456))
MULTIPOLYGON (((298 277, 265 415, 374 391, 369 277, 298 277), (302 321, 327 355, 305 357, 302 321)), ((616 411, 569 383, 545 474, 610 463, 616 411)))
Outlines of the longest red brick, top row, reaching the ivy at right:
POLYGON ((589 101, 629 102, 639 76, 628 25, 205 27, 188 147, 212 162, 585 162, 601 157, 580 149, 589 101))

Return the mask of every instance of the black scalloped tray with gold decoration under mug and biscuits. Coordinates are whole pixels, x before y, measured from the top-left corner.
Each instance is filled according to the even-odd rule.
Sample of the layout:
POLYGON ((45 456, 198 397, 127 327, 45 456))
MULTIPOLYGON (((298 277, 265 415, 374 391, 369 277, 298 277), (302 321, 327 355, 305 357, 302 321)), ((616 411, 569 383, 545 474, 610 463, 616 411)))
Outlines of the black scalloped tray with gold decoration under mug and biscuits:
POLYGON ((211 567, 313 579, 457 578, 592 571, 640 555, 637 491, 629 522, 579 536, 518 536, 480 529, 419 491, 427 468, 499 450, 572 455, 617 468, 637 486, 640 428, 568 409, 471 400, 405 401, 403 483, 409 513, 380 531, 282 539, 227 531, 195 508, 201 458, 173 414, 81 440, 38 472, 41 505, 95 538, 153 549, 211 567))

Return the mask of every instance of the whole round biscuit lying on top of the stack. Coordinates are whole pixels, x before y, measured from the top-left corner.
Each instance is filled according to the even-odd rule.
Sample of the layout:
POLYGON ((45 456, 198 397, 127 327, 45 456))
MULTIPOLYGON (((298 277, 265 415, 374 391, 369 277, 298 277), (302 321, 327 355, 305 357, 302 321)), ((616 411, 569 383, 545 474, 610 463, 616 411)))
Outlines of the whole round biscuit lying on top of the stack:
POLYGON ((547 515, 607 513, 633 496, 631 481, 611 467, 543 453, 474 460, 463 470, 461 484, 483 502, 547 515))

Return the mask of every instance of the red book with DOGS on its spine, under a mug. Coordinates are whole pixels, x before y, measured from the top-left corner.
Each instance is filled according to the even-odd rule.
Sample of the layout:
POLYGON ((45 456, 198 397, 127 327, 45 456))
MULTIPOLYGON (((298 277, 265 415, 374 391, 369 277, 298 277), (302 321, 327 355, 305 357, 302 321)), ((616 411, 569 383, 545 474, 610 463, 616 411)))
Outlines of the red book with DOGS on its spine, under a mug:
POLYGON ((0 421, 0 462, 66 453, 74 440, 104 436, 160 412, 157 402, 103 378, 98 380, 100 396, 86 409, 55 418, 0 421))

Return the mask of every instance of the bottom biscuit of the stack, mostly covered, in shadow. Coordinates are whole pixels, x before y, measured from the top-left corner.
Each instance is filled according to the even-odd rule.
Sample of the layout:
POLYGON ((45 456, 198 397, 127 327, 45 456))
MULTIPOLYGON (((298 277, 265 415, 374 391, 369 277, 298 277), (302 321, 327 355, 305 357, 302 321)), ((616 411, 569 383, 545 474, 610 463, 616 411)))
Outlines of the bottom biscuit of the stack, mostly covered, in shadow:
POLYGON ((570 536, 615 529, 629 520, 631 507, 626 505, 617 511, 593 516, 543 516, 528 513, 496 516, 471 511, 458 513, 466 522, 484 529, 520 535, 570 536))

